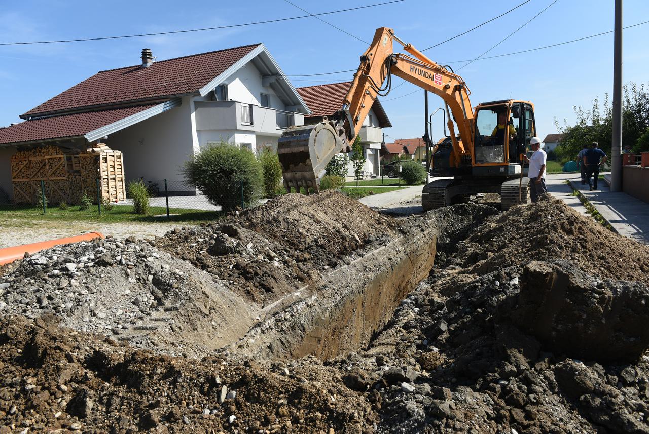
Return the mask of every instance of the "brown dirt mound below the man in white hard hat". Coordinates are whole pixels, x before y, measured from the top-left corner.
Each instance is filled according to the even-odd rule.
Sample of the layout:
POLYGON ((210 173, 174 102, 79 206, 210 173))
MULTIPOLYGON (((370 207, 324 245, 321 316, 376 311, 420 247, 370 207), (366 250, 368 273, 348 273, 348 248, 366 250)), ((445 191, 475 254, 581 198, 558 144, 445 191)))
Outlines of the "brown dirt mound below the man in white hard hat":
POLYGON ((570 259, 586 273, 649 284, 648 246, 608 231, 549 195, 488 220, 457 252, 454 265, 471 273, 531 260, 570 259))

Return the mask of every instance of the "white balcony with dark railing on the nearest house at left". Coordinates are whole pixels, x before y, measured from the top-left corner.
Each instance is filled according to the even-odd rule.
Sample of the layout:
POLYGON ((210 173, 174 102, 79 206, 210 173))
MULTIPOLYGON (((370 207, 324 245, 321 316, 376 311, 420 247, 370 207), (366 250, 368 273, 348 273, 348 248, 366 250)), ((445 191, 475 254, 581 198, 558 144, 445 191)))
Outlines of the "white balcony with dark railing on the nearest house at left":
POLYGON ((278 136, 291 125, 303 125, 304 115, 238 101, 197 101, 197 130, 243 130, 278 136))

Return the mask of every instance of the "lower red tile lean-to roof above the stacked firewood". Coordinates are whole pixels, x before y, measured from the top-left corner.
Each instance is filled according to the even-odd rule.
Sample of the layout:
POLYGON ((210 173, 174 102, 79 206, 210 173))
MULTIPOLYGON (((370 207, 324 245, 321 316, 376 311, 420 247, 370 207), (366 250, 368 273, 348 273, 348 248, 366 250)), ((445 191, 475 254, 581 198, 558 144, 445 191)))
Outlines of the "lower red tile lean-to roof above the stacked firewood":
POLYGON ((79 137, 154 106, 156 104, 25 120, 0 128, 0 144, 79 137))

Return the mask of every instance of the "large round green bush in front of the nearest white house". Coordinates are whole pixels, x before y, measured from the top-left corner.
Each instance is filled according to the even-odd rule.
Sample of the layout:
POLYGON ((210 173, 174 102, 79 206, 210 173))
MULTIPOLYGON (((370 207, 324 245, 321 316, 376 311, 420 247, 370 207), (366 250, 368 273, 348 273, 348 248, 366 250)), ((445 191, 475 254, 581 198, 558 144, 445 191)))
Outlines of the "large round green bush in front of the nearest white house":
POLYGON ((241 182, 244 205, 256 201, 262 190, 262 170, 254 154, 223 141, 185 161, 182 173, 188 184, 223 211, 241 205, 241 182))

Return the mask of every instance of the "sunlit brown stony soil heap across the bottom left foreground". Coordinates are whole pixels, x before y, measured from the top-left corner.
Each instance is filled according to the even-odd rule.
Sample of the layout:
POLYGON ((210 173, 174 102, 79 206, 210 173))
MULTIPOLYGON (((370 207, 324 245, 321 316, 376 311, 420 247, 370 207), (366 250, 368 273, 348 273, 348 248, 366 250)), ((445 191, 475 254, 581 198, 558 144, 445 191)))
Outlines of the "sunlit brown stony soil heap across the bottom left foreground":
POLYGON ((0 319, 3 433, 373 432, 371 406, 317 360, 171 358, 52 320, 0 319))

